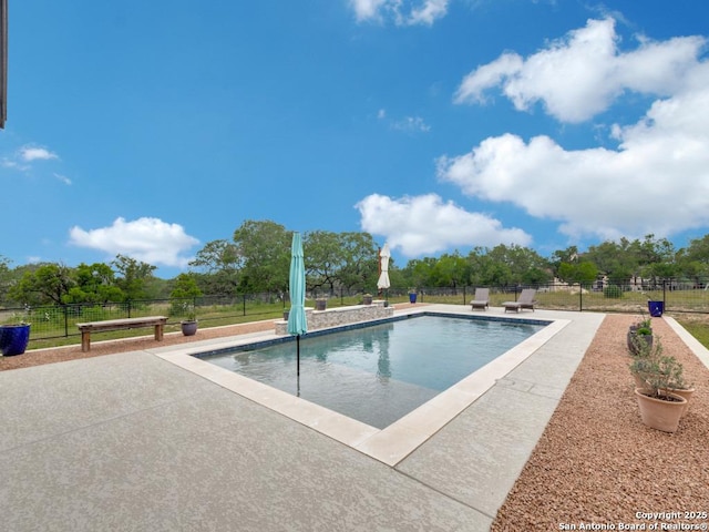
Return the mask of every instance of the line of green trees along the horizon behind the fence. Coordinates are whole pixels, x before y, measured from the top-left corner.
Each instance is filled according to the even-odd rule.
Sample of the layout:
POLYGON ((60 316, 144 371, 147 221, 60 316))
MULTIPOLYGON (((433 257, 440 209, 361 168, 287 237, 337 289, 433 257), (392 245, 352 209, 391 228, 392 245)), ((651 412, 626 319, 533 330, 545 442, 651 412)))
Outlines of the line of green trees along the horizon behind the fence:
MULTIPOLYGON (((292 232, 271 221, 246 221, 232 238, 208 242, 188 273, 156 277, 156 267, 124 255, 109 264, 39 263, 11 267, 0 256, 0 303, 13 305, 101 304, 198 295, 288 290, 292 232)), ((304 234, 307 289, 310 294, 376 291, 379 246, 368 233, 314 231, 304 234)), ((709 277, 709 235, 676 249, 667 238, 607 241, 579 253, 576 246, 541 256, 534 249, 500 244, 439 257, 390 262, 392 290, 411 287, 540 285, 553 279, 610 284, 681 279, 700 285, 709 277)))

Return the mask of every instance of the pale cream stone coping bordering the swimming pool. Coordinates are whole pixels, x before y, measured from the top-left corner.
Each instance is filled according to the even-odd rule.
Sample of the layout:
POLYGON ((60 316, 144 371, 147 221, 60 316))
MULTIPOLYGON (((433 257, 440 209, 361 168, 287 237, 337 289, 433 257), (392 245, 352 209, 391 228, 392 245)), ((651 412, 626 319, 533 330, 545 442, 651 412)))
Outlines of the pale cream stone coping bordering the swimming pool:
MULTIPOLYGON (((397 311, 394 319, 421 314, 471 318, 469 313, 461 310, 403 309, 397 311)), ((234 393, 309 427, 351 449, 390 467, 395 467, 463 410, 473 405, 495 386, 500 379, 508 375, 571 324, 569 319, 535 319, 528 315, 504 317, 481 315, 477 319, 480 318, 526 323, 533 320, 535 323, 548 323, 548 325, 384 429, 377 429, 306 399, 291 396, 288 392, 220 368, 196 356, 250 345, 260 340, 274 341, 282 338, 282 336, 275 334, 244 335, 238 338, 232 337, 220 341, 212 341, 209 345, 183 345, 153 350, 153 354, 234 393)), ((331 329, 339 328, 341 327, 331 329)), ((330 331, 331 329, 327 330, 330 331)))

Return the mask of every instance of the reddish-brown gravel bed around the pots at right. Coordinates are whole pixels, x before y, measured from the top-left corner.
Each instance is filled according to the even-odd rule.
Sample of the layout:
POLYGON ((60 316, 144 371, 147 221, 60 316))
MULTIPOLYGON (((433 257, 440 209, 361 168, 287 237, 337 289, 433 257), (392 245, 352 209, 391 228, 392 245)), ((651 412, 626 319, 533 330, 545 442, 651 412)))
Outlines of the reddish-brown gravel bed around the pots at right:
POLYGON ((664 319, 654 318, 665 354, 682 362, 697 391, 677 432, 646 428, 626 349, 635 320, 609 315, 603 321, 493 531, 690 530, 667 525, 709 523, 684 513, 709 512, 709 369, 664 319))

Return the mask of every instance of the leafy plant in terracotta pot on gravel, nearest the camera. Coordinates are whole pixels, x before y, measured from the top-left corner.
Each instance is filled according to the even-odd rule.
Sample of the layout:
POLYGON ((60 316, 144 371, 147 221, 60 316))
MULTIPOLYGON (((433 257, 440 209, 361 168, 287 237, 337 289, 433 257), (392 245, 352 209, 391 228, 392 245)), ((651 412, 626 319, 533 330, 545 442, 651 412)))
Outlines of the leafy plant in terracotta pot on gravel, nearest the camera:
POLYGON ((675 432, 687 406, 687 399, 675 392, 686 387, 682 365, 675 357, 664 355, 659 337, 653 346, 639 349, 630 371, 643 382, 635 389, 640 418, 647 427, 675 432))

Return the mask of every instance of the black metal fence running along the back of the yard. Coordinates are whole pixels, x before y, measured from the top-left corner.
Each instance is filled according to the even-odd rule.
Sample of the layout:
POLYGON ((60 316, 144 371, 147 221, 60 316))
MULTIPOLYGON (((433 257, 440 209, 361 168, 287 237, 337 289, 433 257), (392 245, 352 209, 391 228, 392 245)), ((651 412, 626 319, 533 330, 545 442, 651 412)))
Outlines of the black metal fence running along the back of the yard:
MULTIPOLYGON (((487 286, 490 305, 501 306, 516 300, 523 288, 535 288, 537 308, 571 311, 610 311, 648 314, 648 301, 661 301, 666 313, 709 314, 709 284, 658 283, 653 286, 549 283, 533 286, 487 286)), ((390 288, 376 298, 390 303, 410 300, 407 289, 390 288)), ((475 287, 417 288, 418 303, 446 303, 467 305, 475 287)), ((328 308, 356 305, 362 294, 346 290, 329 295, 328 308)), ((315 306, 315 294, 308 295, 306 305, 315 306)), ((141 316, 167 316, 167 330, 178 330, 179 321, 193 315, 203 326, 234 325, 260 319, 276 319, 290 306, 287 293, 245 294, 238 296, 201 296, 187 299, 150 299, 103 304, 73 304, 37 307, 0 308, 0 325, 32 324, 30 341, 79 337, 79 323, 141 316)))

